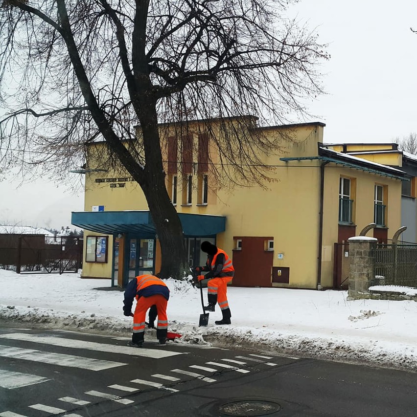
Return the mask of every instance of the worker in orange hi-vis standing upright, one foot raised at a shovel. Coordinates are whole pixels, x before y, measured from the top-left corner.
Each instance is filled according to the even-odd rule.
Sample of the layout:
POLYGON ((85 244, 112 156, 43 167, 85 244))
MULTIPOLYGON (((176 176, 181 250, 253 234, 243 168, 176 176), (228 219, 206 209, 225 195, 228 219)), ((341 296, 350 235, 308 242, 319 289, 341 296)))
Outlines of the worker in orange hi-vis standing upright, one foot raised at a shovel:
POLYGON ((209 241, 201 243, 201 250, 207 253, 207 263, 205 266, 197 266, 196 272, 208 271, 206 275, 200 275, 198 280, 209 279, 207 292, 209 305, 204 307, 206 311, 214 311, 216 303, 222 310, 223 319, 215 321, 215 324, 231 324, 232 313, 227 300, 227 284, 232 281, 234 268, 232 260, 227 253, 213 245, 209 241))

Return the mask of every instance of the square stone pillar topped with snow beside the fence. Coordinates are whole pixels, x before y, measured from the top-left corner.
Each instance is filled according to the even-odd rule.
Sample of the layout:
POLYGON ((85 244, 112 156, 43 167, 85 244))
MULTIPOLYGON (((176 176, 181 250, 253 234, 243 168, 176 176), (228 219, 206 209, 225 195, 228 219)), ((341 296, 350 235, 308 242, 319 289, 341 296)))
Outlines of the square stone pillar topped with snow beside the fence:
POLYGON ((369 298, 368 288, 375 279, 375 247, 378 240, 367 236, 355 236, 349 243, 348 300, 369 298))

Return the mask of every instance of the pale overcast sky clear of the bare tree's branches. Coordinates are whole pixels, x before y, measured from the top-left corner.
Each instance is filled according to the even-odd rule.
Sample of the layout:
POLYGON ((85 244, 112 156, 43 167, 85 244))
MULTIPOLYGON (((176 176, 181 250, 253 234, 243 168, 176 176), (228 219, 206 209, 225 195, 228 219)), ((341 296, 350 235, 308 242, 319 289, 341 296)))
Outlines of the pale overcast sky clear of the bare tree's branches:
MULTIPOLYGON (((317 28, 328 43, 327 95, 310 106, 324 142, 390 142, 417 132, 417 1, 301 0, 290 14, 317 28)), ((68 174, 76 176, 76 174, 68 174)), ((0 183, 0 221, 60 228, 82 211, 82 192, 37 181, 0 183), (4 198, 6 197, 6 198, 4 198)))

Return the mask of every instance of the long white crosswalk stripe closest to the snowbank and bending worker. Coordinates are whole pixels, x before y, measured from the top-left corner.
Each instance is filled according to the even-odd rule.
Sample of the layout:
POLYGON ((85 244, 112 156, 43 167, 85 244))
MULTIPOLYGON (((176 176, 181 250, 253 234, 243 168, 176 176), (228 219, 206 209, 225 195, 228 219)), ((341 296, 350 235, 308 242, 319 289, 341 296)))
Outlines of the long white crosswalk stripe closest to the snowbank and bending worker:
POLYGON ((104 343, 89 342, 79 339, 66 339, 64 337, 56 336, 40 336, 29 333, 8 333, 1 334, 0 338, 22 340, 25 342, 43 343, 45 345, 61 346, 64 348, 87 349, 91 351, 121 353, 132 356, 144 356, 153 359, 160 359, 169 356, 182 355, 185 352, 165 351, 158 349, 137 349, 129 346, 107 345, 104 343))

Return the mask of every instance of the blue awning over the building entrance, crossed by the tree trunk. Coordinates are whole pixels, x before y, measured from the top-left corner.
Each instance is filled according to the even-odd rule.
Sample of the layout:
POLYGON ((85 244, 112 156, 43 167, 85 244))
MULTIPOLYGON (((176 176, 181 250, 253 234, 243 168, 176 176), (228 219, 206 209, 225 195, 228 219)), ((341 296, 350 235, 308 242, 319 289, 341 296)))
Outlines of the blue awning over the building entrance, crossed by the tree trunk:
MULTIPOLYGON (((224 216, 178 213, 186 237, 215 236, 226 229, 224 216)), ((156 235, 149 211, 72 212, 71 224, 106 235, 129 233, 142 239, 156 235)))

